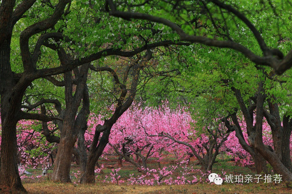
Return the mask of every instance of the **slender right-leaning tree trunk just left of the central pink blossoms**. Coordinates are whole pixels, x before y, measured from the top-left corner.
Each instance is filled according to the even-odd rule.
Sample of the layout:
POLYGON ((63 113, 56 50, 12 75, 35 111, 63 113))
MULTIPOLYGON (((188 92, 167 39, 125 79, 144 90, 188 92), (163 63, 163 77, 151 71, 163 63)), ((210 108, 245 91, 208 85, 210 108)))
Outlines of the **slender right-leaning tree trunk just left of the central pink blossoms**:
MULTIPOLYGON (((116 73, 111 70, 115 83, 120 87, 120 96, 117 99, 117 104, 114 108, 114 112, 109 119, 105 119, 103 125, 96 126, 94 138, 91 143, 91 148, 87 160, 86 171, 81 178, 81 183, 92 183, 94 179, 94 167, 99 157, 101 156, 104 148, 107 146, 110 137, 110 130, 117 121, 117 119, 130 107, 139 82, 140 71, 145 68, 147 62, 151 59, 152 52, 146 52, 145 56, 138 57, 137 61, 133 61, 133 64, 129 64, 125 69, 124 77, 120 81, 116 73), (131 74, 130 74, 131 73, 131 74), (130 78, 131 77, 131 78, 130 78), (127 84, 127 82, 129 83, 127 84), (127 89, 128 85, 128 89, 127 89), (102 136, 100 136, 102 132, 102 136)), ((98 70, 98 68, 96 69, 98 70)))

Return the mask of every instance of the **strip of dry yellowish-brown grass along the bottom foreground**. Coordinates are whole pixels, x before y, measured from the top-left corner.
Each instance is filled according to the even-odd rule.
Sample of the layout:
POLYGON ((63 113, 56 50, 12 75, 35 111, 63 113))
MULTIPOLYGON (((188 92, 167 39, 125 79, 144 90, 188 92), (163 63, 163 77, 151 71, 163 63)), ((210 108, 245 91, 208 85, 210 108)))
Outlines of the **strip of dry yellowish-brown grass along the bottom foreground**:
POLYGON ((162 186, 137 186, 137 185, 73 185, 53 183, 26 183, 24 187, 29 194, 289 194, 292 189, 284 184, 196 184, 196 185, 162 185, 162 186))

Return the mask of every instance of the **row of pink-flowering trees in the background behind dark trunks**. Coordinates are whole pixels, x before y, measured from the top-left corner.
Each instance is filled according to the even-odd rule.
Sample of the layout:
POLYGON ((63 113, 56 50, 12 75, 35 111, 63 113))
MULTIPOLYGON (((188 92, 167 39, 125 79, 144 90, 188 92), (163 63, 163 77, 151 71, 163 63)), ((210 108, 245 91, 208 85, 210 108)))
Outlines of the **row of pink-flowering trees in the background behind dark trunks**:
MULTIPOLYGON (((93 140, 94 129, 103 122, 101 115, 90 115, 88 130, 85 133, 85 146, 88 150, 93 140)), ((129 180, 132 184, 142 184, 143 181, 145 184, 179 183, 178 178, 172 178, 171 175, 179 166, 184 168, 184 175, 193 172, 192 167, 186 168, 190 157, 196 158, 197 163, 201 165, 202 173, 212 171, 219 153, 230 155, 244 166, 254 164, 252 157, 238 143, 235 131, 227 130, 217 122, 217 127, 214 127, 216 126, 214 124, 208 127, 206 124, 202 133, 195 125, 196 121, 186 107, 170 109, 166 103, 158 108, 140 108, 136 104, 113 125, 110 142, 102 157, 116 155, 119 157, 120 166, 122 162, 130 162, 136 166, 143 175, 140 177, 131 175, 129 180), (161 166, 160 162, 169 158, 175 158, 177 165, 161 166), (157 162, 159 169, 149 169, 147 165, 149 161, 157 162), (152 181, 149 181, 151 179, 152 181)), ((263 125, 264 143, 273 147, 271 129, 267 122, 263 125)), ((50 128, 50 125, 48 127, 50 128)), ((244 122, 241 123, 241 127, 244 137, 247 138, 244 122)), ((29 120, 19 122, 17 141, 19 165, 48 169, 54 163, 57 144, 46 141, 40 123, 29 120)), ((75 146, 77 147, 77 143, 75 146)), ((116 183, 117 171, 114 170, 111 176, 116 183)), ((26 176, 22 175, 22 178, 26 176)), ((183 180, 182 177, 179 179, 183 180)), ((197 180, 195 177, 191 180, 185 178, 183 182, 195 183, 197 180)))

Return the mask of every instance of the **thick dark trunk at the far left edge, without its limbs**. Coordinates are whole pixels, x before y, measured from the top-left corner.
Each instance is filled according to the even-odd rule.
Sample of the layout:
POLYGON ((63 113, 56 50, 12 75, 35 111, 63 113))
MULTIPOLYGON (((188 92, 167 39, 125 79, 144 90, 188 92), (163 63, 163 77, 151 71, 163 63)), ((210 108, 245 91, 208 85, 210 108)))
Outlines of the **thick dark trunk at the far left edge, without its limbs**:
POLYGON ((7 37, 0 47, 0 185, 11 188, 15 193, 26 193, 21 184, 17 164, 16 115, 20 110, 22 96, 16 95, 16 91, 12 90, 14 80, 10 67, 10 38, 7 37))

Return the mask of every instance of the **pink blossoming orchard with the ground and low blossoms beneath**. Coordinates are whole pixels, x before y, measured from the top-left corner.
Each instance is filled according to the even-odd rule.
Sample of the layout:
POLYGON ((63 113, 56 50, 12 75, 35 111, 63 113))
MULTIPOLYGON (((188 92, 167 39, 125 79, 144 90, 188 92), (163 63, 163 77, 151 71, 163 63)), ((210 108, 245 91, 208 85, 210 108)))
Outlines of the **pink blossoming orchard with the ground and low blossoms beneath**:
MULTIPOLYGON (((207 175, 212 172, 213 164, 218 162, 216 160, 218 155, 218 158, 224 156, 227 162, 234 162, 233 165, 249 168, 255 166, 253 158, 240 146, 235 131, 229 131, 226 136, 217 139, 213 136, 215 131, 201 134, 195 130, 196 121, 188 111, 189 108, 170 109, 168 102, 157 108, 142 107, 134 103, 112 126, 110 141, 100 159, 102 164, 96 166, 94 171, 96 180, 118 185, 122 183, 180 185, 208 182, 207 175), (213 141, 220 145, 218 150, 216 148, 210 150, 210 144, 213 141), (213 156, 215 159, 210 163, 211 169, 207 170, 206 164, 201 161, 216 152, 217 155, 213 156), (195 158, 191 160, 192 162, 191 157, 195 158), (117 163, 106 167, 107 162, 113 161, 117 163), (128 178, 122 178, 119 171, 123 166, 129 166, 128 163, 134 166, 137 172, 129 174, 128 178), (105 176, 104 180, 100 180, 99 177, 104 174, 103 170, 106 168, 110 168, 111 172, 105 176)), ((84 134, 87 150, 92 144, 94 129, 104 122, 101 118, 101 115, 89 116, 88 131, 84 134)), ((248 135, 244 121, 240 125, 246 140, 248 135)), ((267 122, 264 122, 263 126, 263 141, 273 149, 271 128, 267 122)), ((224 128, 220 123, 218 127, 224 128)), ((34 169, 50 172, 58 145, 45 140, 45 136, 40 132, 39 122, 22 120, 18 123, 17 130, 20 178, 24 180, 42 178, 34 169), (31 126, 34 126, 34 129, 31 126), (35 173, 27 175, 24 173, 25 169, 35 173)), ((76 144, 74 149, 77 147, 76 144)), ((81 165, 74 155, 71 162, 74 166, 81 165)), ((222 169, 220 175, 224 177, 225 174, 226 172, 222 169)), ((81 178, 80 170, 73 171, 71 178, 75 184, 78 184, 81 178)))

